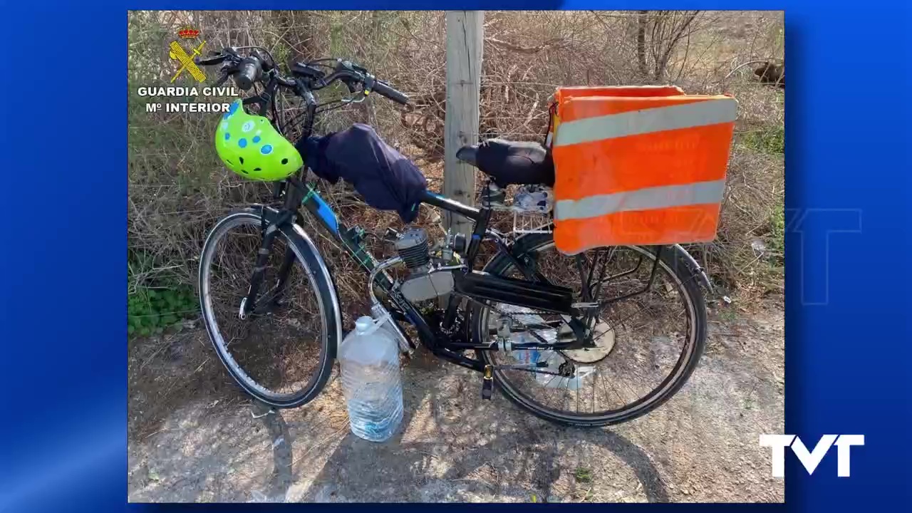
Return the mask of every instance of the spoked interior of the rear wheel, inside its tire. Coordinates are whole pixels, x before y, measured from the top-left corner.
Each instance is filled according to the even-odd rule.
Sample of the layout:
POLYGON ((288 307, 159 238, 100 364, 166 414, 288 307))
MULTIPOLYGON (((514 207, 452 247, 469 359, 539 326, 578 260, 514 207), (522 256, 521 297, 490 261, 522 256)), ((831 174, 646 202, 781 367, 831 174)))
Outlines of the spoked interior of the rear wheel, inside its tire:
MULTIPOLYGON (((535 267, 551 283, 572 288, 575 297, 586 300, 587 288, 595 298, 606 296, 609 289, 613 298, 643 292, 591 312, 594 322, 588 326, 607 325, 594 330, 592 340, 598 344, 611 344, 610 351, 579 350, 578 355, 577 351, 555 351, 575 366, 575 372, 570 376, 553 375, 542 381, 534 379, 534 372, 495 371, 502 380, 504 392, 536 414, 560 414, 562 418, 578 416, 585 422, 600 424, 645 413, 664 402, 668 389, 674 387, 661 386, 662 383, 671 375, 679 382, 686 379, 689 372, 678 372, 678 369, 700 356, 703 341, 692 340, 692 337, 705 337, 700 335, 705 331, 691 330, 694 322, 705 323, 699 289, 675 275, 673 267, 654 266, 656 256, 648 248, 600 248, 578 257, 563 257, 556 251, 545 254, 551 249, 553 247, 545 243, 534 253, 535 267), (655 281, 647 290, 653 269, 656 270, 655 281), (693 317, 695 315, 698 317, 693 317), (687 335, 681 338, 675 333, 687 335), (591 356, 587 357, 587 353, 591 356), (672 354, 678 356, 669 359, 672 354), (573 358, 595 361, 576 362, 573 358), (566 382, 554 382, 558 378, 566 382), (589 390, 582 390, 584 387, 589 390)), ((500 268, 505 270, 496 274, 522 278, 509 261, 502 266, 500 268)), ((481 332, 496 336, 494 331, 487 330, 487 326, 481 332)), ((485 355, 495 362, 511 358, 498 351, 485 355)))

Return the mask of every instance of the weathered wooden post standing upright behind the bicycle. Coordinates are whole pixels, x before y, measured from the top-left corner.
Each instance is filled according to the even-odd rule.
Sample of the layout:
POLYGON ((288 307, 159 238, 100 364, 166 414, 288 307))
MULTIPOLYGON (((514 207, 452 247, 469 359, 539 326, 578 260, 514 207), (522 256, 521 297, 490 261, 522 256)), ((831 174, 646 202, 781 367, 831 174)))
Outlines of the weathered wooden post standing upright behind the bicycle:
MULTIPOLYGON (((443 130, 443 193, 464 204, 475 203, 475 168, 456 159, 466 144, 478 142, 482 89, 484 11, 447 11, 447 112, 443 130)), ((466 236, 471 222, 446 213, 445 223, 466 236)))

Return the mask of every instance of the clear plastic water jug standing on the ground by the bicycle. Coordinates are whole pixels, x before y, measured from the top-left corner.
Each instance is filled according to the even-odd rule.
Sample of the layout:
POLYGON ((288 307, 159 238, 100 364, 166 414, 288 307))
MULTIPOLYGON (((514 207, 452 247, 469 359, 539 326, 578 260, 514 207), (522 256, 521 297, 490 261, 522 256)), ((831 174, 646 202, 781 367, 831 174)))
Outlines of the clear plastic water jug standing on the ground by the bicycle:
POLYGON ((371 442, 389 440, 402 422, 396 340, 374 319, 361 317, 342 340, 338 357, 351 432, 371 442))

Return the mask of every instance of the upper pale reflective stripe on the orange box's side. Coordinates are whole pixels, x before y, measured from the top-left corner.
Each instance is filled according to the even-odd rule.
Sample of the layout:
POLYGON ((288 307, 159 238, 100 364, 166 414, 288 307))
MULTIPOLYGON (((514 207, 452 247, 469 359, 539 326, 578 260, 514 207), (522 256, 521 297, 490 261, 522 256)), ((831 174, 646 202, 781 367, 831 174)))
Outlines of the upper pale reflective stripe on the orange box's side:
POLYGON ((728 123, 737 117, 738 102, 733 98, 707 99, 655 109, 631 110, 583 120, 563 121, 557 127, 554 146, 728 123))

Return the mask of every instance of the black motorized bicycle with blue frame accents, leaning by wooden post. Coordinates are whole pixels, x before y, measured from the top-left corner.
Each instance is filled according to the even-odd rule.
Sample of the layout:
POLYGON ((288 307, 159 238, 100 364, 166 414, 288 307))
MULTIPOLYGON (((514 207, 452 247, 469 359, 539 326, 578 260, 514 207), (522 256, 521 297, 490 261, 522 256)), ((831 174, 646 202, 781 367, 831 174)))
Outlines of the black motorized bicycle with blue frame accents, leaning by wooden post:
MULTIPOLYGON (((197 62, 222 65, 217 85, 233 78, 244 90, 261 86, 263 92, 243 103, 271 113, 271 122, 283 133, 297 127, 283 126, 276 93, 281 88, 302 99, 306 115, 298 141, 312 134, 317 113, 328 105, 317 101, 316 91, 337 82, 351 94, 342 102, 363 101, 377 93, 408 103, 407 95, 342 59, 298 62, 289 76, 279 72, 261 47, 224 48, 197 62), (250 51, 242 56, 241 49, 250 51)), ((477 165, 476 151, 477 145, 467 146, 458 157, 477 165)), ((531 231, 493 229, 492 212, 515 211, 504 204, 503 189, 492 181, 508 167, 502 162, 482 169, 489 181, 480 207, 432 192, 421 198, 422 204, 471 220, 471 235, 449 233, 431 247, 420 228, 402 234, 389 229, 379 238, 396 246, 398 256, 382 261, 368 251, 363 230, 345 225, 314 183, 306 181, 306 166, 275 183, 274 198, 281 199, 282 206, 251 204, 219 220, 202 248, 199 289, 212 345, 233 379, 257 400, 278 408, 308 403, 326 385, 343 336, 342 313, 333 274, 302 223, 306 214, 367 275, 371 311, 376 319, 389 316, 387 326, 401 351, 410 355, 418 348, 401 325, 411 326, 432 354, 482 374, 482 399, 490 400, 496 385, 523 410, 576 426, 626 422, 668 401, 694 371, 706 342, 701 290, 711 290, 706 273, 678 245, 606 247, 565 257, 551 252, 549 222, 531 231), (247 234, 239 246, 219 250, 230 233, 244 229, 247 234), (492 243, 496 253, 476 269, 482 243, 492 243), (232 267, 252 256, 253 270, 232 267), (620 270, 608 274, 609 263, 620 270), (393 267, 405 267, 407 276, 394 277, 393 267), (578 279, 568 278, 574 273, 578 279), (223 277, 233 292, 213 286, 213 280, 223 277), (316 299, 316 307, 306 308, 293 296, 308 287, 312 294, 306 297, 316 299), (652 294, 658 294, 658 300, 652 294), (217 309, 215 301, 223 296, 227 306, 217 309), (289 303, 294 308, 289 309, 289 303), (671 311, 682 313, 683 322, 668 330, 669 321, 660 314, 671 303, 680 303, 671 311), (630 304, 634 307, 626 306, 630 304), (644 312, 659 321, 661 331, 634 325, 644 312), (225 319, 218 319, 222 313, 225 319), (617 319, 617 314, 623 316, 617 319), (231 330, 235 321, 240 325, 236 333, 231 330), (279 325, 276 334, 255 341, 252 330, 270 323, 279 325), (288 334, 299 329, 304 334, 288 334), (280 342, 287 348, 279 358, 264 356, 266 346, 280 342), (658 342, 656 347, 653 342, 658 342), (672 342, 679 342, 682 349, 670 350, 672 342), (242 362, 248 360, 249 365, 242 362), (648 381, 633 373, 634 364, 670 371, 658 381, 648 381), (304 378, 274 384, 305 366, 311 370, 304 378), (611 372, 614 366, 619 369, 611 372), (643 383, 647 393, 634 391, 643 383), (618 384, 623 388, 619 390, 618 384), (613 405, 616 396, 620 406, 613 405), (602 399, 610 399, 612 405, 596 405, 602 399)), ((539 171, 533 170, 516 182, 540 180, 539 171)))

